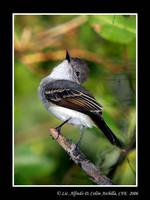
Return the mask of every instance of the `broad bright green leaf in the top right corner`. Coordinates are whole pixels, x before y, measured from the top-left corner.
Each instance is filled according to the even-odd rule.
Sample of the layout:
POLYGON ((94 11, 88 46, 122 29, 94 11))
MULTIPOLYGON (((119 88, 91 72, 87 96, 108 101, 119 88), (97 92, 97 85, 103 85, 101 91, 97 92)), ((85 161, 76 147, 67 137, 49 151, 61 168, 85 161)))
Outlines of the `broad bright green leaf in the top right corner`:
POLYGON ((135 16, 99 15, 93 16, 90 23, 101 37, 111 42, 128 44, 136 37, 135 16))

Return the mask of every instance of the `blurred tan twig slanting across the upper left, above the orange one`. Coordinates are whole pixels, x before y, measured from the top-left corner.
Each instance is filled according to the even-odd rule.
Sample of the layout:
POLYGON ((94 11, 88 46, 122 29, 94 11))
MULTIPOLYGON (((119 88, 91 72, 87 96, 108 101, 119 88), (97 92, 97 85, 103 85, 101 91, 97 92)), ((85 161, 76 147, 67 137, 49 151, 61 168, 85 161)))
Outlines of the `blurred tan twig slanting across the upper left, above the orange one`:
POLYGON ((39 51, 50 46, 59 46, 62 42, 62 35, 80 27, 87 21, 86 15, 77 16, 65 23, 50 27, 41 32, 33 32, 31 29, 24 28, 21 37, 18 39, 15 34, 15 50, 18 52, 24 51, 39 51), (25 39, 25 40, 24 40, 25 39))

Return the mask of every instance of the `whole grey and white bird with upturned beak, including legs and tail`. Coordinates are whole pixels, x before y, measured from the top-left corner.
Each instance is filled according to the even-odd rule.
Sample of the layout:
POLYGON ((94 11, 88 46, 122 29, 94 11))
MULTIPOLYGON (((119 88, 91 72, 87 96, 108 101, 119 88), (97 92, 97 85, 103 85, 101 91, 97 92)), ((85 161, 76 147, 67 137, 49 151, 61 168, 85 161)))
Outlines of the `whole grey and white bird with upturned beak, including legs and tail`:
POLYGON ((62 124, 56 127, 59 134, 66 123, 79 127, 79 145, 82 130, 96 126, 112 145, 122 148, 122 142, 103 118, 103 106, 81 86, 88 74, 87 63, 83 59, 71 57, 66 50, 65 59, 41 80, 38 87, 40 99, 50 113, 62 120, 62 124))

